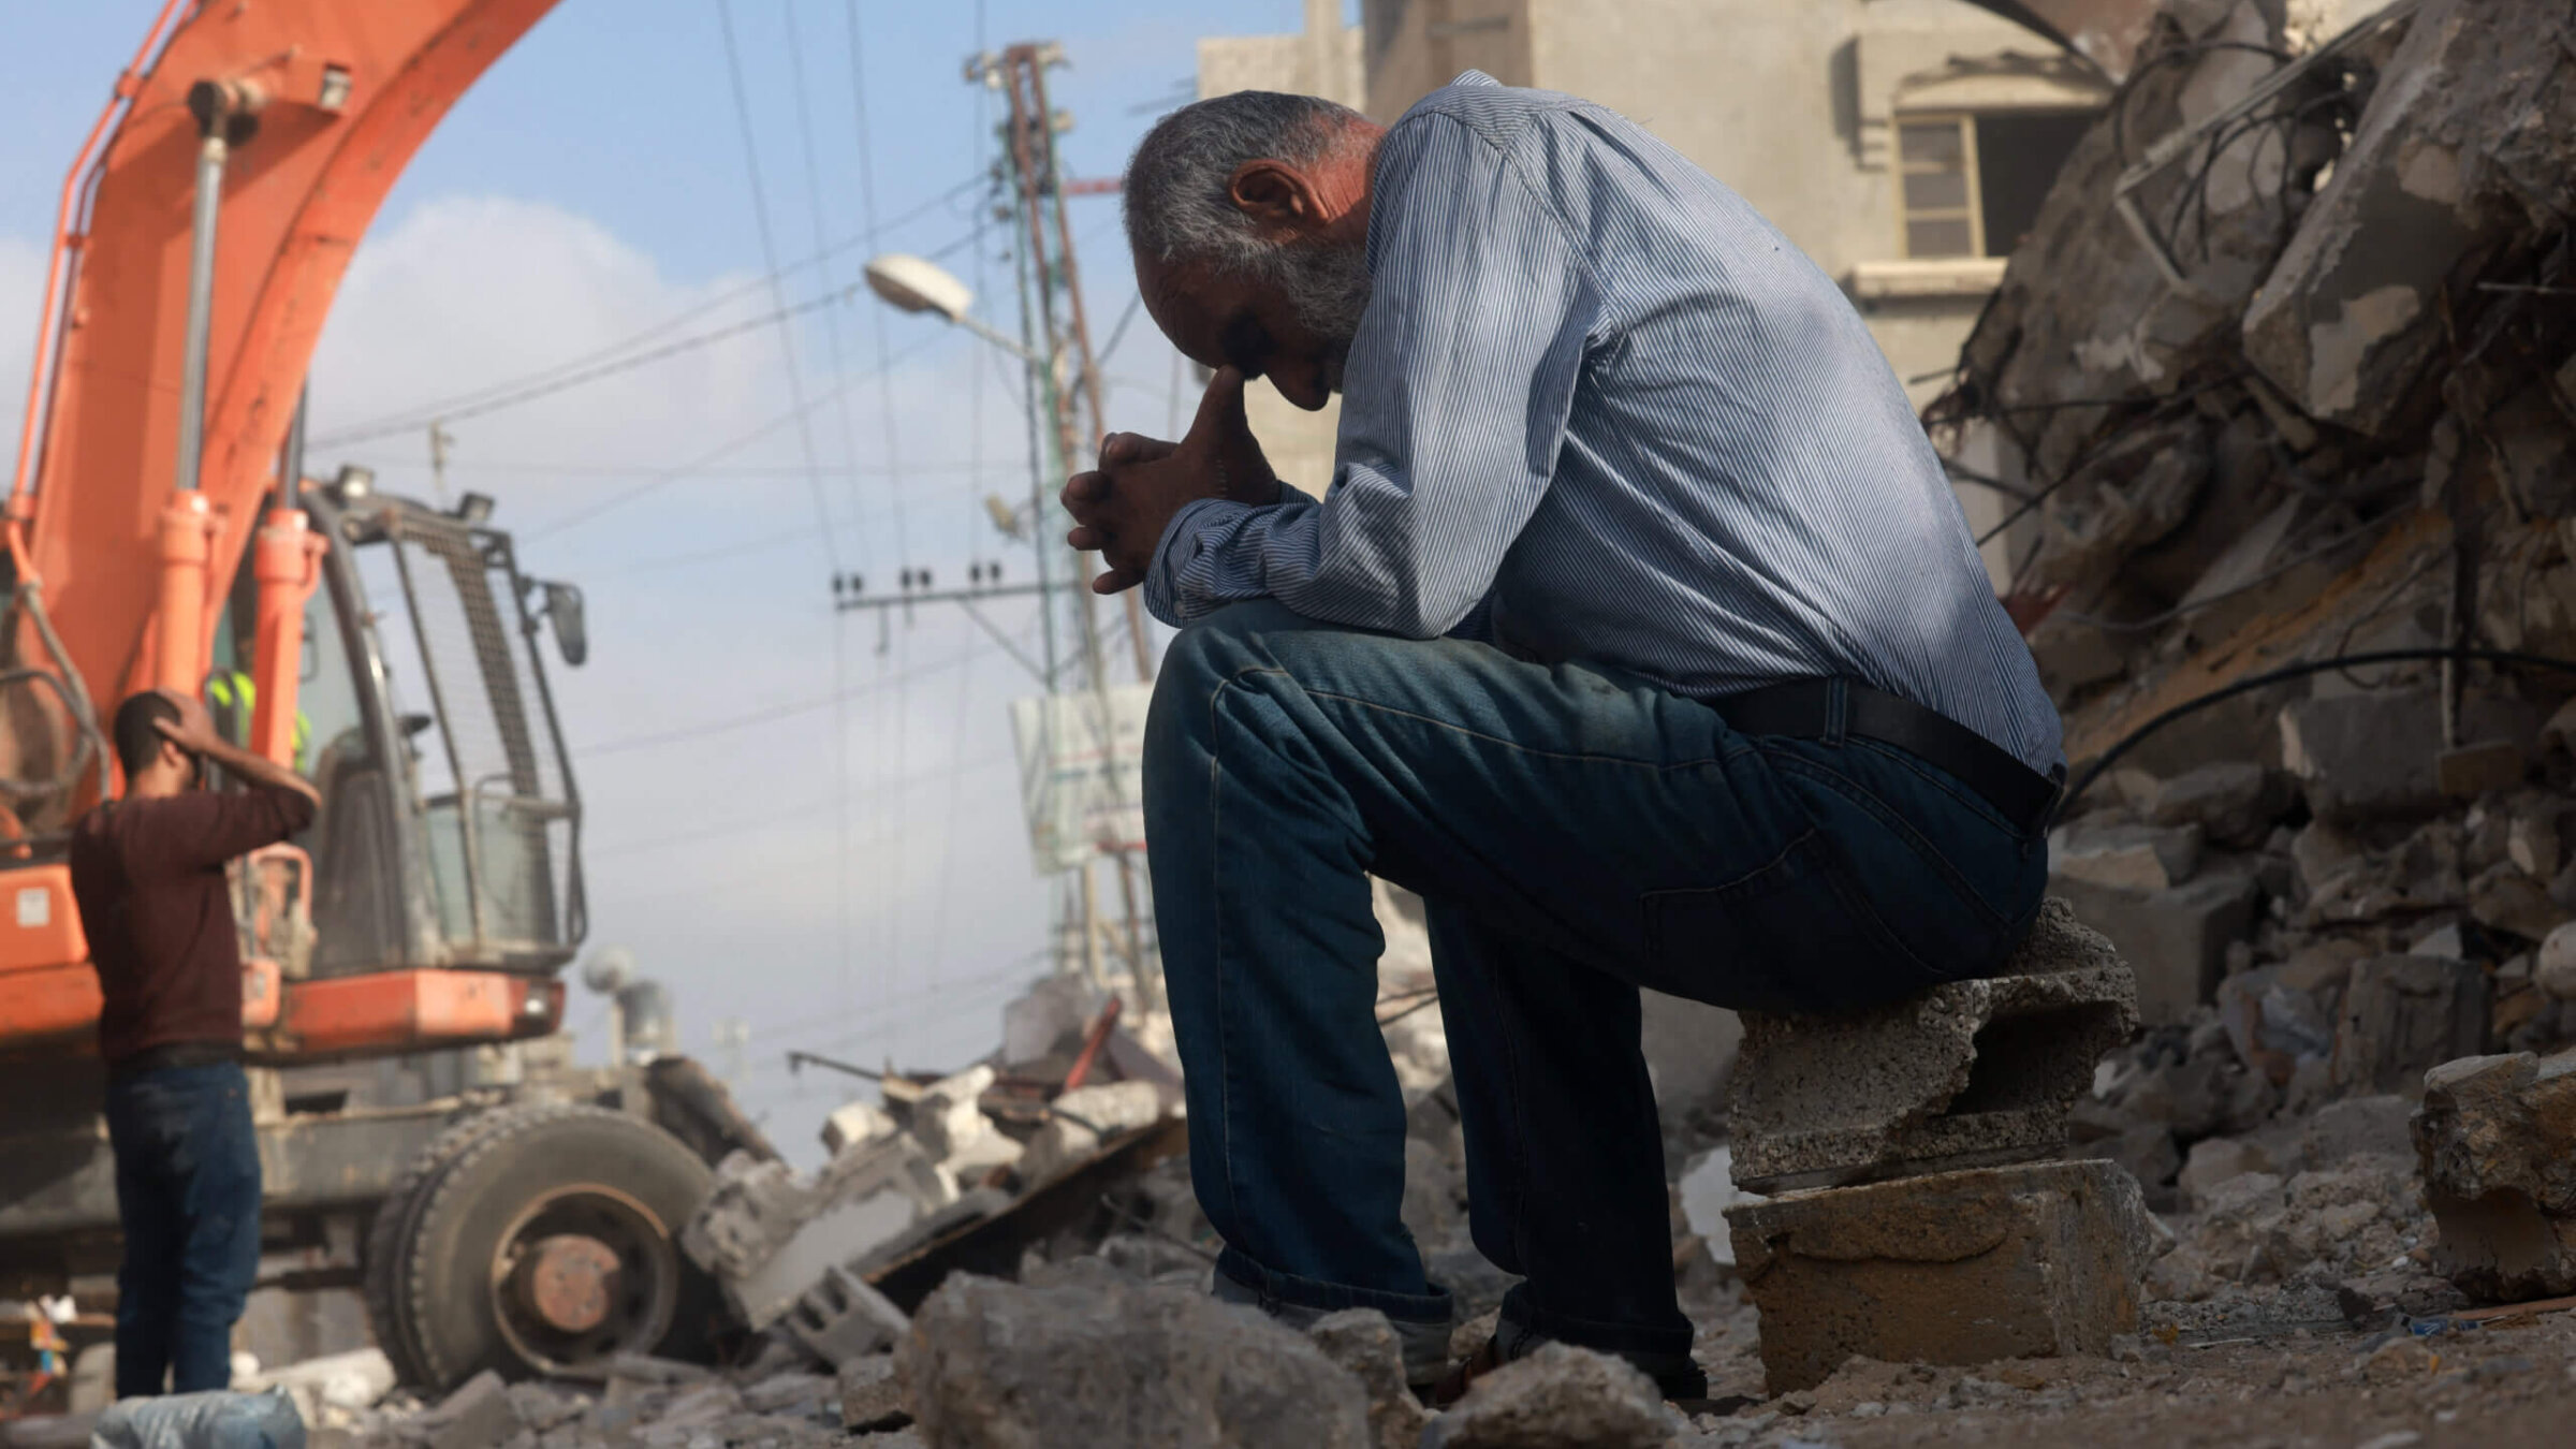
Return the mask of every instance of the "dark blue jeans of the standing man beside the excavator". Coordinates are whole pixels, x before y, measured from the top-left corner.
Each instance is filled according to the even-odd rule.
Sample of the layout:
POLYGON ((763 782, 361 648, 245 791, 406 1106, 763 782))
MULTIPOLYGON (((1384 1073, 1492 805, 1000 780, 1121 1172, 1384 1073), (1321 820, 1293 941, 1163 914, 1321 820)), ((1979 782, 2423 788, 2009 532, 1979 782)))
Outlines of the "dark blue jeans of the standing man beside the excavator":
POLYGON ((232 1325, 260 1276, 260 1142, 234 1062, 108 1080, 116 1214, 116 1397, 232 1385, 232 1325))

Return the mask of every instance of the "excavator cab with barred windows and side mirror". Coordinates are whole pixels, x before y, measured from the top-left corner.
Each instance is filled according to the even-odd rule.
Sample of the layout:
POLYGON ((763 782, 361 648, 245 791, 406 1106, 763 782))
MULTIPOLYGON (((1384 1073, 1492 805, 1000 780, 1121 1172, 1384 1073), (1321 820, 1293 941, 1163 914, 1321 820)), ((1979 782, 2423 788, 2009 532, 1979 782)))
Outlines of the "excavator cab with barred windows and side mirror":
POLYGON ((544 606, 569 585, 526 578, 479 495, 438 511, 343 469, 304 508, 332 544, 299 691, 322 786, 299 841, 312 975, 556 972, 587 931, 580 792, 538 647, 549 619, 580 632, 544 606))

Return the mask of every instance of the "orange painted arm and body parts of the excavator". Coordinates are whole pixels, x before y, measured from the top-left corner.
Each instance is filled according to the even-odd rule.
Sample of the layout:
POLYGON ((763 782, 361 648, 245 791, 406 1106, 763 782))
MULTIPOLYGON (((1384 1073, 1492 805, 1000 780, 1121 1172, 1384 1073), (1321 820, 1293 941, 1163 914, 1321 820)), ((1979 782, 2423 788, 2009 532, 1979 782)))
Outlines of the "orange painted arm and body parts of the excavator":
MULTIPOLYGON (((551 8, 165 3, 64 180, 5 518, 18 588, 39 596, 62 663, 103 712, 134 688, 204 678, 216 611, 250 552, 252 748, 291 758, 299 619, 325 541, 299 511, 276 508, 250 549, 258 500, 278 482, 273 464, 358 237, 448 106, 551 8), (196 487, 180 490, 196 83, 263 103, 224 170, 204 456, 196 487)), ((18 629, 18 655, 36 657, 26 616, 18 629)), ((0 864, 0 1052, 88 1049, 100 995, 70 871, 0 864)), ((283 982, 276 964, 252 962, 245 980, 252 1049, 276 1060, 502 1042, 559 1016, 559 982, 505 972, 283 982)))

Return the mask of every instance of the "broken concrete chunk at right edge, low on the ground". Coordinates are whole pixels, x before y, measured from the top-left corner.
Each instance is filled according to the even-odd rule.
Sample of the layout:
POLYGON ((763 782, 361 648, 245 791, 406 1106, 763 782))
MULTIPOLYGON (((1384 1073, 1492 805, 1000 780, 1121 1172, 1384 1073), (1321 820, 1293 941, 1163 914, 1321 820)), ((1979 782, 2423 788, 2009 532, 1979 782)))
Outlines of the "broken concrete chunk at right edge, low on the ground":
POLYGON ((2576 1292, 2576 1049, 2424 1073, 2414 1145, 2450 1281, 2491 1302, 2576 1292))

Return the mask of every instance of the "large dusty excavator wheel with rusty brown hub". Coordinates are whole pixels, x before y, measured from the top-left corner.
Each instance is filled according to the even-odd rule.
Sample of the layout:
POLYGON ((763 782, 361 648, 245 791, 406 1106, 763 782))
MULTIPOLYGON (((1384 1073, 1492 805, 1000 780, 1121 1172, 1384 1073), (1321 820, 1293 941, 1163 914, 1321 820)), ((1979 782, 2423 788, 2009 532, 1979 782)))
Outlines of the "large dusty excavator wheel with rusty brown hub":
POLYGON ((680 1140, 618 1111, 477 1116, 376 1214, 376 1338, 428 1392, 482 1369, 526 1379, 629 1351, 698 1356, 721 1302, 677 1235, 711 1186, 680 1140))

